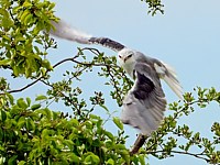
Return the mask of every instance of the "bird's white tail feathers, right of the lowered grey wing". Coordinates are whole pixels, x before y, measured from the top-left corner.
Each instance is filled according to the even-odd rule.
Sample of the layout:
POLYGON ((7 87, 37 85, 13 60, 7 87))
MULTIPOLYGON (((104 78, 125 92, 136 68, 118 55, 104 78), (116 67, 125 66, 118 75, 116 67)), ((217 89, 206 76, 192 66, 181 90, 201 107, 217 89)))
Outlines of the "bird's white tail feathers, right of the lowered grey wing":
POLYGON ((172 88, 172 90, 183 100, 183 88, 177 79, 176 73, 168 64, 163 63, 163 66, 155 64, 155 69, 161 78, 172 88))

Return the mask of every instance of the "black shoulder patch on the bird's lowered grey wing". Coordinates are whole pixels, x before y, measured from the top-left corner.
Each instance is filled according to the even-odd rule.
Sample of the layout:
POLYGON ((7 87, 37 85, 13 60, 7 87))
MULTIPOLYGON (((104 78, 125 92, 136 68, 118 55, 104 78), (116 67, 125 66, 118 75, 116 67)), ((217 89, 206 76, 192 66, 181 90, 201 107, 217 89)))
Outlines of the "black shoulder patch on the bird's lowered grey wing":
POLYGON ((151 79, 143 74, 136 72, 136 87, 133 90, 133 95, 136 99, 144 100, 154 90, 155 86, 151 79))

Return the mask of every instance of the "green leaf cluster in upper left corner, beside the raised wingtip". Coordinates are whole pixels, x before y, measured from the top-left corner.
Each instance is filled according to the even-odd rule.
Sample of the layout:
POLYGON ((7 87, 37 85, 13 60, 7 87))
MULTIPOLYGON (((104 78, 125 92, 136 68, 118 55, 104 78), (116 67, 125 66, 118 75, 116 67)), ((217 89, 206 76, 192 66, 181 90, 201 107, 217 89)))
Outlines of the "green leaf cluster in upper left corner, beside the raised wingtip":
POLYGON ((0 3, 0 67, 14 77, 40 76, 52 69, 46 50, 56 47, 42 31, 51 29, 55 3, 40 0, 2 0, 0 3), (34 75, 33 75, 34 74, 34 75))

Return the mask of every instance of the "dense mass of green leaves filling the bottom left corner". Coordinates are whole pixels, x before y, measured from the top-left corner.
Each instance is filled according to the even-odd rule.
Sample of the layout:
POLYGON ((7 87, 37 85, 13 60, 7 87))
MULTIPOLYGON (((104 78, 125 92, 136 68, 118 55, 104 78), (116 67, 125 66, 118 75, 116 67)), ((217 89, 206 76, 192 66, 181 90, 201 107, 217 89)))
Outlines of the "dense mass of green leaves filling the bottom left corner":
MULTIPOLYGON (((89 113, 77 119, 43 107, 46 96, 14 100, 1 97, 1 164, 121 164, 129 162, 122 136, 103 129, 103 120, 89 113), (4 100, 4 101, 3 101, 4 100)), ((121 123, 114 119, 118 127, 121 123)))

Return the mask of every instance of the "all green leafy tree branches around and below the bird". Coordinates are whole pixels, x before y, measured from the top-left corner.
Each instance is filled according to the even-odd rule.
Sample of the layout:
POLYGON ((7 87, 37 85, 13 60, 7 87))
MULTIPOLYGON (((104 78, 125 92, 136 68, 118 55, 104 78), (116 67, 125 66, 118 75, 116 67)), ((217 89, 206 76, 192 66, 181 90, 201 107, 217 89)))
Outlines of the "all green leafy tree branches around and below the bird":
MULTIPOLYGON (((153 2, 161 4, 161 1, 152 1, 150 9, 155 9, 153 2)), ((184 101, 170 103, 170 114, 160 129, 146 139, 138 154, 131 154, 125 145, 128 135, 123 124, 106 103, 110 96, 120 107, 133 84, 117 66, 116 56, 106 56, 96 48, 78 48, 75 56, 51 66, 46 54, 56 44, 42 30, 48 30, 50 22, 57 20, 53 15, 54 4, 38 0, 3 0, 0 4, 0 66, 11 70, 18 79, 24 76, 33 80, 20 89, 10 89, 6 77, 0 78, 1 164, 144 165, 147 156, 167 158, 175 154, 195 156, 210 164, 220 163, 219 121, 210 128, 211 139, 178 123, 180 118, 198 109, 220 105, 220 92, 215 88, 197 87, 194 92, 185 94, 184 101), (63 80, 52 81, 50 73, 56 73, 56 67, 67 62, 73 63, 73 70, 64 73, 63 80), (85 74, 105 79, 102 86, 109 87, 110 94, 94 91, 89 99, 84 98, 80 82, 85 74), (46 94, 34 99, 13 96, 38 81, 47 87, 46 94), (53 111, 50 107, 55 102, 72 112, 53 111), (99 117, 97 109, 103 111, 107 119, 99 117), (109 120, 114 123, 117 133, 105 129, 109 120)))

